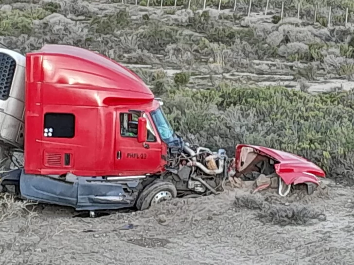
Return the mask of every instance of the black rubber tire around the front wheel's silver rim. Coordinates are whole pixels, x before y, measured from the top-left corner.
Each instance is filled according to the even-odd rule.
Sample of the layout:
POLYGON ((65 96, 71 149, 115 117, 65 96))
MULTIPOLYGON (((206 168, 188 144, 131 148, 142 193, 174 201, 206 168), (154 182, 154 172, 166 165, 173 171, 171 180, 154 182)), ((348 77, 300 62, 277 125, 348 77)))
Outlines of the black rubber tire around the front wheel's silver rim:
POLYGON ((137 209, 140 211, 148 209, 151 205, 151 201, 161 192, 169 193, 172 197, 170 199, 177 197, 177 189, 174 184, 167 181, 156 180, 147 185, 139 194, 136 203, 137 209))

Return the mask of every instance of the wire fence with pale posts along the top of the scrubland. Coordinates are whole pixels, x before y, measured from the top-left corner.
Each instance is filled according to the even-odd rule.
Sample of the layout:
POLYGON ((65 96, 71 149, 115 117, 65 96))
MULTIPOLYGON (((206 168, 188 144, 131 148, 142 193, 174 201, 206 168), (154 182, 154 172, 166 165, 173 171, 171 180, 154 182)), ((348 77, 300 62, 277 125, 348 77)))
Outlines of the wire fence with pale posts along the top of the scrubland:
MULTIPOLYGON (((118 0, 120 1, 120 0, 118 0)), ((306 5, 301 7, 301 3, 297 3, 296 6, 288 5, 285 1, 279 0, 264 0, 261 3, 255 3, 255 0, 247 0, 247 5, 245 5, 245 0, 121 0, 124 4, 135 4, 148 7, 172 8, 177 10, 178 7, 182 6, 187 9, 196 8, 197 10, 206 10, 208 7, 217 8, 217 12, 220 14, 225 9, 234 13, 239 14, 244 13, 244 16, 250 17, 253 12, 262 12, 264 15, 275 15, 279 17, 279 20, 283 20, 285 17, 295 17, 299 21, 311 21, 314 24, 319 23, 322 26, 332 27, 332 26, 344 26, 348 27, 353 24, 353 10, 349 7, 340 8, 338 5, 335 7, 319 7, 318 4, 306 5), (271 3, 273 2, 273 6, 271 3), (265 6, 261 6, 264 4, 265 6), (281 6, 279 6, 281 4, 281 6), (191 7, 192 6, 192 7, 191 7), (270 9, 271 12, 270 12, 270 9), (275 14, 274 14, 275 12, 275 14)), ((353 0, 354 1, 354 0, 353 0)))

